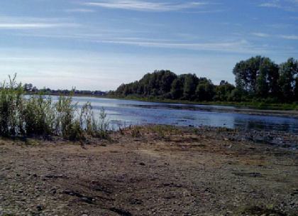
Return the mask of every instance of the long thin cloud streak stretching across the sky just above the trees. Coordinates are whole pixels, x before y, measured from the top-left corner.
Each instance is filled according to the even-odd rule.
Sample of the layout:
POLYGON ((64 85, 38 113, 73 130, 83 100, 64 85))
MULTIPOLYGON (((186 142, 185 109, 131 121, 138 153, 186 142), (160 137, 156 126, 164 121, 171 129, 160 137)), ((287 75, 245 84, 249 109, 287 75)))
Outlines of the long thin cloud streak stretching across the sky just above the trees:
MULTIPOLYGON (((20 35, 20 34, 18 34, 20 35)), ((130 35, 130 34, 128 34, 130 35)), ((255 33, 256 36, 266 37, 265 33, 255 33)), ((87 41, 89 43, 109 43, 128 46, 140 46, 143 48, 166 48, 166 49, 180 49, 180 50, 207 50, 219 51, 223 53, 266 53, 264 48, 255 46, 245 40, 231 41, 231 42, 196 42, 197 37, 192 35, 177 35, 180 39, 165 39, 165 38, 145 38, 123 36, 123 32, 106 31, 100 34, 35 34, 35 33, 22 33, 21 36, 28 37, 46 37, 46 38, 72 38, 75 40, 87 41), (186 39, 182 39, 181 37, 186 39), (189 41, 189 42, 186 42, 189 41), (192 42, 191 42, 192 41, 192 42)))

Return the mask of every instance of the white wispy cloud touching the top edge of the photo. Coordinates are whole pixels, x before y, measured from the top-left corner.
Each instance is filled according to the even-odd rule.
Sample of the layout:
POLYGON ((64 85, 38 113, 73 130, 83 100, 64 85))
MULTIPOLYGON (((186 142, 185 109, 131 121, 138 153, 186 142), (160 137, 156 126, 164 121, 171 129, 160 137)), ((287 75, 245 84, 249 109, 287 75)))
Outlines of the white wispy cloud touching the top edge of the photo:
POLYGON ((197 6, 206 5, 206 2, 186 2, 186 3, 173 3, 173 2, 150 2, 150 1, 100 1, 100 2, 87 2, 87 6, 99 6, 109 9, 126 9, 133 11, 176 11, 181 9, 192 9, 197 6))

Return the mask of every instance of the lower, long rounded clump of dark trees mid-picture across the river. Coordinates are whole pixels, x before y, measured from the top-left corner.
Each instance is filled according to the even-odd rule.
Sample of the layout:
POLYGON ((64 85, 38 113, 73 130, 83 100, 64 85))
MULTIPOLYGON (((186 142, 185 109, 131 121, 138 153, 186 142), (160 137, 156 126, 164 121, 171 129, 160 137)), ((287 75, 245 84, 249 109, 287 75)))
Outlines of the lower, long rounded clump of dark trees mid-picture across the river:
POLYGON ((187 101, 212 100, 215 87, 211 80, 205 77, 198 78, 195 74, 175 75, 170 70, 155 70, 147 73, 135 82, 121 84, 112 97, 129 97, 142 99, 180 99, 187 101), (204 92, 197 92, 198 85, 204 84, 204 92))

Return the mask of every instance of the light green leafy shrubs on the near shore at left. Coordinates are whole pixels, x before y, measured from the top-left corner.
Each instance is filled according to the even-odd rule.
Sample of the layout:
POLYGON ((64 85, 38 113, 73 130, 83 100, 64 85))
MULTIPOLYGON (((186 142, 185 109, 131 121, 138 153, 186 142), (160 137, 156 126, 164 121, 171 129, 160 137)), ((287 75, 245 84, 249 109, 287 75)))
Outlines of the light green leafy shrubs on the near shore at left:
POLYGON ((72 102, 74 91, 60 95, 55 103, 45 95, 45 90, 26 99, 21 83, 16 83, 16 75, 9 77, 9 82, 1 83, 0 89, 0 136, 56 135, 82 140, 91 135, 109 139, 109 121, 104 109, 98 121, 89 102, 79 111, 77 103, 72 102))

